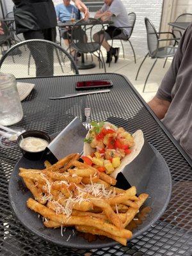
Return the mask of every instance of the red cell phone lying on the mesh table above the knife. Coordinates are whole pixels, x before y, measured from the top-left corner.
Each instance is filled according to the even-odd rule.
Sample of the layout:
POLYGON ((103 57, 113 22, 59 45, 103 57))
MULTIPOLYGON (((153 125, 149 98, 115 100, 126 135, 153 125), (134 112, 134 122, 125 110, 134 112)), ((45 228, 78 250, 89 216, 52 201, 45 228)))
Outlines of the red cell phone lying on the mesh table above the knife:
POLYGON ((110 88, 113 86, 111 80, 79 81, 76 83, 76 90, 88 90, 93 88, 110 88))

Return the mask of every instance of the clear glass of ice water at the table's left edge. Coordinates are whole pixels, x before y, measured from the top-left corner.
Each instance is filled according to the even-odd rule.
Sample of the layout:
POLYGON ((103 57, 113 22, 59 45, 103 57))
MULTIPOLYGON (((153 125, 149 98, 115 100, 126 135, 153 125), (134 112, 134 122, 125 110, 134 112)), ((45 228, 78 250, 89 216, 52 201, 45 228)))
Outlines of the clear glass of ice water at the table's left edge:
POLYGON ((15 77, 0 73, 0 125, 12 125, 22 119, 23 112, 15 77))

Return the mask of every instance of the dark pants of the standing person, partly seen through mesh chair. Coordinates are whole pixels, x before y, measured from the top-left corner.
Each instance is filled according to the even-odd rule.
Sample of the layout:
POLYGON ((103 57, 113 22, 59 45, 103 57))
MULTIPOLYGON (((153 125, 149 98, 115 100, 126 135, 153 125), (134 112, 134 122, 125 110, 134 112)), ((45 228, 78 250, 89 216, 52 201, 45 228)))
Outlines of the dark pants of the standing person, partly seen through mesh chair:
MULTIPOLYGON (((25 40, 44 39, 52 42, 56 41, 56 28, 48 28, 37 31, 27 31, 23 33, 25 40)), ((36 47, 28 45, 36 65, 36 77, 53 76, 54 73, 54 56, 53 47, 41 45, 36 47)))

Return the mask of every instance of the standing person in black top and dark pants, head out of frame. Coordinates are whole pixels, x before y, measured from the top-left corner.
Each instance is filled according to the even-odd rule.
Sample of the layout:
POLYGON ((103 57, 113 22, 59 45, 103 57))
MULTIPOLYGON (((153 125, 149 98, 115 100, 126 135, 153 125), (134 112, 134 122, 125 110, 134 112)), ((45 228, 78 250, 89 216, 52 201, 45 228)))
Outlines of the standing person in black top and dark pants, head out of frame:
MULTIPOLYGON (((52 0, 13 0, 16 33, 25 40, 44 39, 56 41, 56 12, 52 0)), ((36 49, 28 46, 36 66, 36 76, 53 76, 53 50, 42 45, 36 49)))

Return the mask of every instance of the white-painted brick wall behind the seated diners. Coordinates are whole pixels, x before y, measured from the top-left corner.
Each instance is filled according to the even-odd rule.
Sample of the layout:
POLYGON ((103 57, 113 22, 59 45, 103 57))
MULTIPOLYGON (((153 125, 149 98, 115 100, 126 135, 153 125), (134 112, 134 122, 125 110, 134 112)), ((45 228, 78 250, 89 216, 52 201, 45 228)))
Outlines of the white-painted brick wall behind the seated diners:
MULTIPOLYGON (((163 6, 163 0, 122 0, 127 9, 127 13, 136 13, 136 24, 134 32, 131 36, 131 42, 136 52, 136 55, 143 56, 147 52, 147 40, 144 18, 148 17, 156 29, 159 30, 161 22, 161 12, 163 6)), ((165 0, 166 1, 166 0, 165 0)), ((4 1, 8 12, 12 11, 12 0, 4 1)), ((54 4, 62 3, 62 0, 53 0, 54 4)), ((93 16, 92 16, 93 17, 93 16)), ((117 43, 118 44, 118 43, 117 43)), ((125 42, 125 52, 127 55, 132 54, 129 43, 125 42)))

